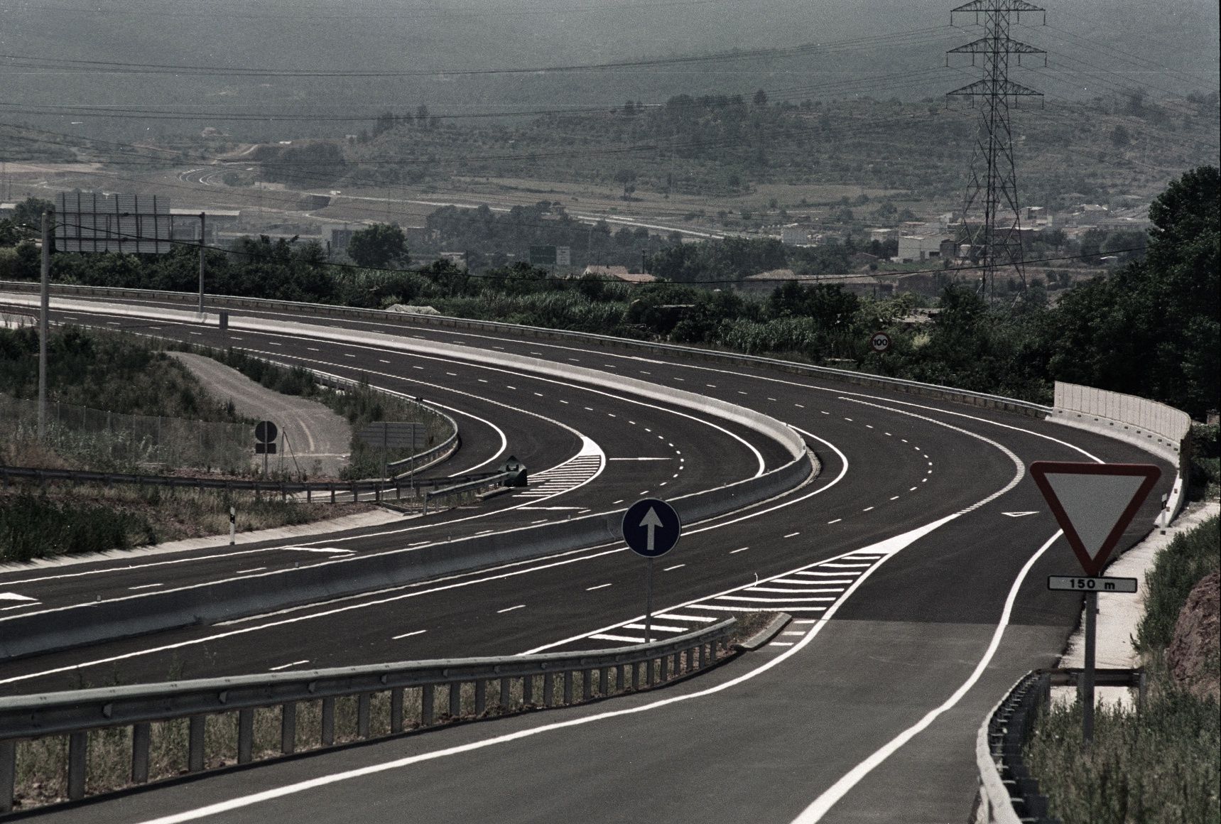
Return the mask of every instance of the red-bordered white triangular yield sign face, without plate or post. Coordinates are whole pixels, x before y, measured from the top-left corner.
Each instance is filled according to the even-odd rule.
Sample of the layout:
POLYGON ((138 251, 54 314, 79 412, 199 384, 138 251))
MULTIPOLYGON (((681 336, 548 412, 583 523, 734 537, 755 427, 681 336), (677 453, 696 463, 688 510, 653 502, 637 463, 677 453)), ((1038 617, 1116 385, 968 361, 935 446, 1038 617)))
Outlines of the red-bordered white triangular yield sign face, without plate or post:
POLYGON ((1161 470, 1151 464, 1037 460, 1031 475, 1085 575, 1098 575, 1161 470))

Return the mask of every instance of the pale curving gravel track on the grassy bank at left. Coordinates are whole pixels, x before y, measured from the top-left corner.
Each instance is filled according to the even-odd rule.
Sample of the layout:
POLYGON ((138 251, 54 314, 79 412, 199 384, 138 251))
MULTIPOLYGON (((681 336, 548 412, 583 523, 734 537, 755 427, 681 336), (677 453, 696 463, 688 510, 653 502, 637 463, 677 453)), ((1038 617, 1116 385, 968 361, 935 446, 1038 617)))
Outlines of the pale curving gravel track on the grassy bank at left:
MULTIPOLYGON (((292 466, 292 455, 295 455, 297 464, 311 479, 339 476, 348 463, 352 443, 352 427, 341 415, 316 400, 269 389, 205 355, 168 354, 181 360, 209 394, 231 399, 239 415, 270 420, 278 426, 288 438, 289 449, 283 455, 286 466, 292 466)), ((254 443, 253 432, 250 442, 254 443)), ((274 460, 278 461, 280 455, 274 460)))

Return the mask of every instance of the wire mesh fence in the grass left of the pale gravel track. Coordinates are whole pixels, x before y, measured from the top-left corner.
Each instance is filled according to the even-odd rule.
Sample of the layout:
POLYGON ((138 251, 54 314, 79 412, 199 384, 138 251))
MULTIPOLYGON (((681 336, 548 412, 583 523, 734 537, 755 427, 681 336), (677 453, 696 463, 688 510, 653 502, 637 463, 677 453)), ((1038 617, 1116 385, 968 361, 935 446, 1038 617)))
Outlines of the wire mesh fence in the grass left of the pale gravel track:
MULTIPOLYGON (((0 394, 0 431, 6 435, 9 453, 0 463, 24 464, 23 448, 38 443, 38 402, 0 394)), ((250 469, 252 443, 247 424, 121 415, 66 403, 46 404, 46 444, 79 469, 190 468, 244 474, 250 469)))

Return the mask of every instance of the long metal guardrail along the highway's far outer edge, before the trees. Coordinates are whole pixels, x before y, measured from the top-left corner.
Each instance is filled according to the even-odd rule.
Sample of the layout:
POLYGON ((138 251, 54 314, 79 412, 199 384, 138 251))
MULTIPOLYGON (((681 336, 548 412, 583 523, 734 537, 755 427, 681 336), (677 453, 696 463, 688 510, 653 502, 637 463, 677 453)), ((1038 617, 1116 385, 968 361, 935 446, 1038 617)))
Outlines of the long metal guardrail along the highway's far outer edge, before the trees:
MULTIPOLYGON (((38 284, 24 281, 0 281, 0 289, 10 289, 15 292, 35 292, 38 289, 38 284)), ((76 295, 94 297, 94 298, 136 298, 145 300, 162 299, 162 300, 173 300, 188 304, 198 300, 199 298, 198 293, 192 294, 186 292, 168 292, 168 291, 156 291, 156 289, 127 289, 127 288, 100 287, 100 286, 53 284, 51 291, 56 294, 76 294, 76 295)), ((514 332, 516 334, 524 334, 536 338, 585 341, 603 347, 609 345, 619 348, 632 348, 654 353, 681 353, 687 356, 696 356, 696 358, 702 358, 705 360, 712 360, 719 363, 739 364, 747 366, 767 365, 774 369, 780 369, 799 375, 817 375, 832 380, 847 381, 850 383, 869 385, 869 386, 877 386, 878 388, 890 388, 900 392, 908 392, 912 394, 945 398, 949 400, 956 400, 960 403, 967 403, 977 407, 991 407, 998 409, 1006 409, 1009 411, 1016 411, 1020 414, 1026 414, 1032 416, 1042 417, 1051 411, 1050 407, 1045 407, 1043 404, 1031 403, 1026 400, 1017 400, 1015 398, 1005 398, 1002 396, 994 396, 984 392, 969 392, 965 389, 956 389, 954 387, 939 386, 935 383, 922 383, 919 381, 910 381, 899 377, 886 377, 883 375, 871 375, 868 372, 857 372, 846 369, 833 369, 830 366, 814 366, 812 364, 801 364, 797 361, 780 360, 777 358, 761 358, 758 355, 744 355, 737 353, 719 352, 716 349, 701 349, 698 347, 678 345, 673 343, 652 343, 648 341, 632 341, 630 338, 619 338, 609 334, 595 334, 592 332, 569 332, 564 330, 552 330, 541 326, 524 326, 520 323, 466 320, 463 317, 449 317, 447 315, 409 315, 404 313, 394 313, 381 309, 354 309, 350 306, 332 306, 328 304, 311 304, 295 300, 270 300, 265 298, 208 295, 208 302, 209 305, 214 308, 215 306, 245 308, 245 309, 256 309, 263 311, 286 310, 308 315, 376 320, 383 323, 394 322, 403 326, 424 325, 424 326, 437 326, 437 327, 451 327, 451 328, 464 327, 464 328, 492 331, 492 332, 496 331, 514 332)))

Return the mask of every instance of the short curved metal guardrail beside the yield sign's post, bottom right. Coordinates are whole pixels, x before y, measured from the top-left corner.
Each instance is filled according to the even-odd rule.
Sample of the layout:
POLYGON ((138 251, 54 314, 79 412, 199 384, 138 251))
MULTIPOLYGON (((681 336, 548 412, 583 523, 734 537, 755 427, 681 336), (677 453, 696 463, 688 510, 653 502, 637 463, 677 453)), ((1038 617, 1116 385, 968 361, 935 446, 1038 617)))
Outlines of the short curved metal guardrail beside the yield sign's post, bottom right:
MULTIPOLYGON (((1048 797, 1039 792, 1038 778, 1023 763, 1022 748, 1039 710, 1051 701, 1053 686, 1077 686, 1079 669, 1040 669, 1023 675, 993 708, 976 734, 976 768, 979 795, 974 824, 1060 824, 1048 815, 1048 797)), ((1143 669, 1096 669, 1099 686, 1136 687, 1144 701, 1143 669)))

